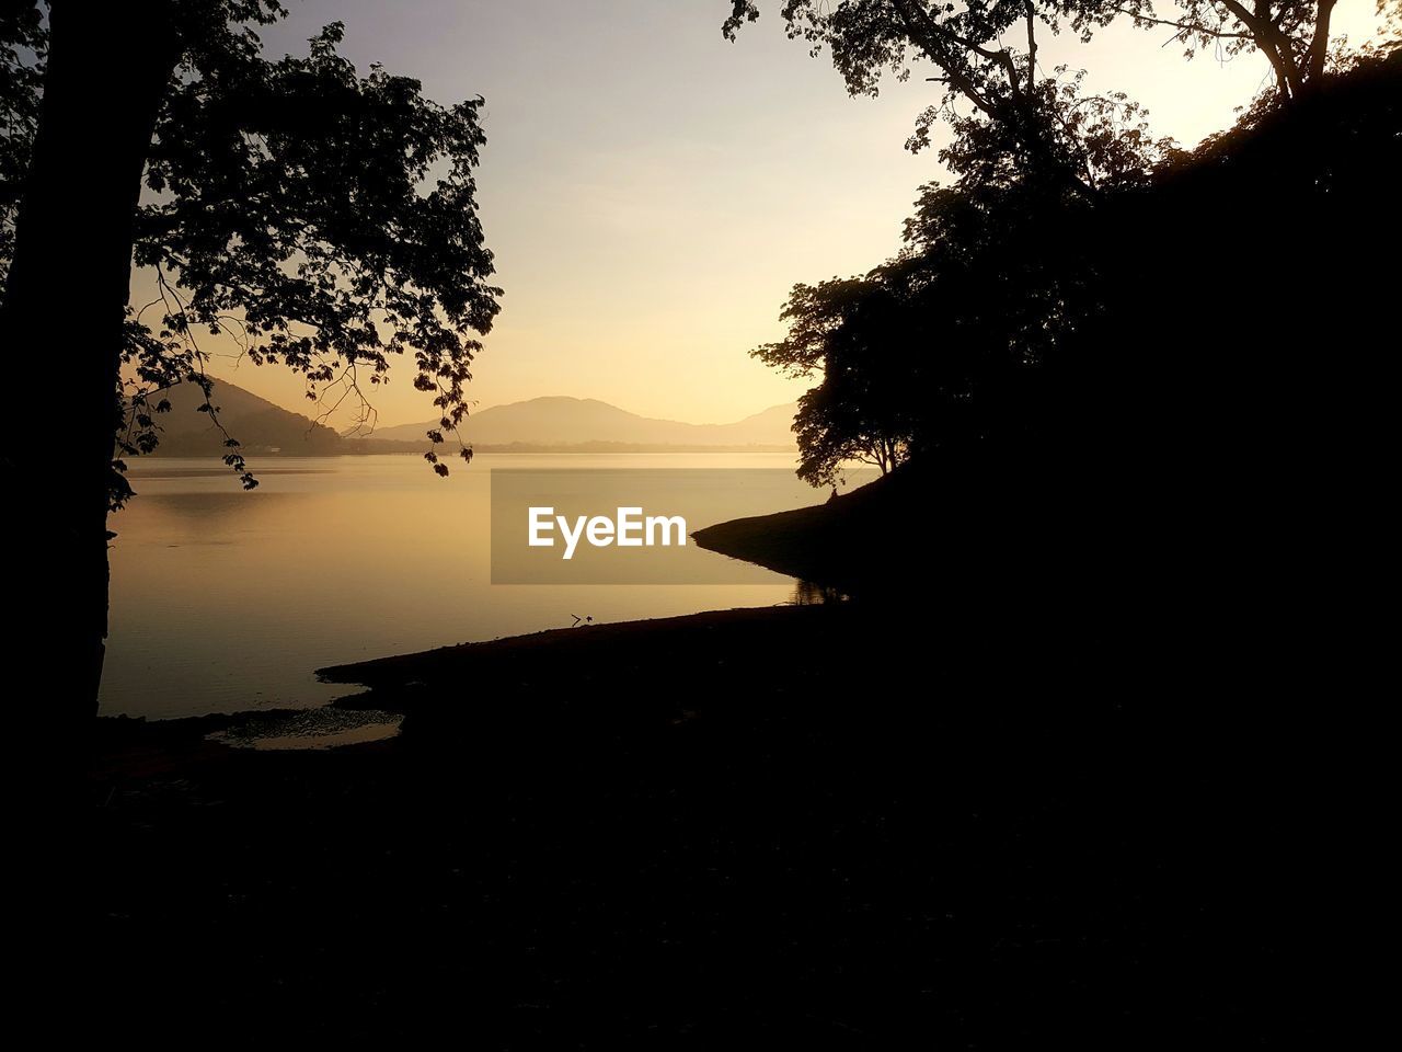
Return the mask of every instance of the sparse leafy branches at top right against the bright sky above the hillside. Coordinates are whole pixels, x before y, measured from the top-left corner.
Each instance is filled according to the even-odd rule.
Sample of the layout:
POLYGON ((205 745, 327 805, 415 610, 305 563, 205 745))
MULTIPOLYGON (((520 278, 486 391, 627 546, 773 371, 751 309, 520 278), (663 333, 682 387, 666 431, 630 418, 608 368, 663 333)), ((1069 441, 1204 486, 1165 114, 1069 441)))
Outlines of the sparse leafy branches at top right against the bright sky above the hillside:
MULTIPOLYGON (((906 80, 927 62, 941 100, 917 119, 907 146, 930 143, 945 122, 952 140, 939 160, 955 175, 986 180, 990 168, 1046 178, 1091 194, 1143 181, 1172 146, 1154 139, 1144 109, 1120 93, 1084 97, 1082 72, 1044 69, 1044 34, 1070 31, 1089 42, 1116 18, 1169 27, 1189 55, 1211 45, 1227 55, 1258 50, 1276 73, 1272 102, 1288 104, 1319 83, 1330 58, 1336 0, 1176 0, 1159 13, 1152 0, 784 0, 788 35, 812 55, 826 50, 847 90, 875 95, 885 76, 906 80)), ((1377 0, 1380 13, 1398 0, 1377 0)), ((760 17, 756 0, 730 0, 722 32, 735 39, 760 17)))

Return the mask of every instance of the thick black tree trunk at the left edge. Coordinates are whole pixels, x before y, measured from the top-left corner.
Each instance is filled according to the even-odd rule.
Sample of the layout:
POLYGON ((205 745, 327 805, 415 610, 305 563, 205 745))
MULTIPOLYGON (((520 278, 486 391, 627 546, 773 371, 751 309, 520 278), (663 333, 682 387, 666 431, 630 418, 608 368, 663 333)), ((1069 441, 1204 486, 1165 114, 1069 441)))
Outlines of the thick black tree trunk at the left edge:
MULTIPOLYGON (((132 227, 179 55, 164 1, 55 0, 43 105, 0 316, 22 375, 4 473, 7 555, 35 571, 14 669, 42 739, 77 757, 97 711, 108 612, 107 508, 132 227)), ((55 771, 56 774, 56 771, 55 771)))

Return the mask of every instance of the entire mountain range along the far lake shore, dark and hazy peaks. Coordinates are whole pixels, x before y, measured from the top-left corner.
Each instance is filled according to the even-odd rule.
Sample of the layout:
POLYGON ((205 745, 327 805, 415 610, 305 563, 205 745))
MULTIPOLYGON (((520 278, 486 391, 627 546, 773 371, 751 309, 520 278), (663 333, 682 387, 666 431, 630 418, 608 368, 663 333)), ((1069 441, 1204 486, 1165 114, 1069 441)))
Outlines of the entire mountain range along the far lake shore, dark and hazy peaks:
MULTIPOLYGON (((203 396, 182 384, 165 396, 171 411, 157 417, 164 456, 213 456, 224 449, 223 433, 199 412, 203 396)), ((436 422, 380 428, 369 438, 341 438, 308 417, 290 412, 237 384, 215 383, 220 422, 245 453, 341 456, 356 453, 418 453, 436 422)), ((735 424, 683 424, 639 417, 596 398, 545 397, 496 405, 471 414, 463 439, 482 453, 510 452, 687 452, 789 450, 796 407, 774 405, 735 424)))

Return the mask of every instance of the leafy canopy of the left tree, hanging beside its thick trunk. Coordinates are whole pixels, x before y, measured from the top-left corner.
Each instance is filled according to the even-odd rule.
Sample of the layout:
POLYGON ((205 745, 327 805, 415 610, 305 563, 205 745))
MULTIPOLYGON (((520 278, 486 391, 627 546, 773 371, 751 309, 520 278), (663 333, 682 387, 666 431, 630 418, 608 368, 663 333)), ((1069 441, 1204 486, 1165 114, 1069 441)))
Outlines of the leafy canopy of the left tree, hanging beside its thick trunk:
MULTIPOLYGON (((15 132, 0 153, 6 269, 42 108, 42 7, 15 6, 0 22, 0 105, 15 132)), ((363 422, 369 389, 397 356, 412 356, 414 384, 440 417, 428 438, 442 442, 467 411, 478 337, 499 309, 474 198, 481 100, 444 107, 411 77, 379 66, 359 74, 338 52, 341 24, 313 38, 306 56, 269 59, 255 28, 285 14, 271 0, 202 0, 161 14, 151 32, 168 38, 170 70, 132 244, 158 296, 133 304, 123 327, 119 452, 158 442, 161 391, 207 387, 205 334, 227 334, 254 363, 301 373, 308 398, 350 398, 363 422)), ((203 407, 217 418, 216 405, 203 407)), ((252 485, 230 443, 229 463, 252 485)), ((114 504, 128 494, 114 476, 114 504)))

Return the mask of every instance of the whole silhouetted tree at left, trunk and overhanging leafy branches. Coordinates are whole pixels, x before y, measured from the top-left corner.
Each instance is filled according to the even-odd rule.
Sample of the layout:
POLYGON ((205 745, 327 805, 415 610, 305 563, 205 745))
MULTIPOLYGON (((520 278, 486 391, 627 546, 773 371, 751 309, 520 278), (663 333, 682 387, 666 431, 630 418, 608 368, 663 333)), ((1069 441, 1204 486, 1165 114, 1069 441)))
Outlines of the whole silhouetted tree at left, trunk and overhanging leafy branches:
MULTIPOLYGON (((63 384, 60 460, 6 463, 25 499, 10 551, 49 575, 18 645, 49 655, 70 725, 94 711, 107 515, 129 494, 114 439, 130 408, 126 449, 151 440, 146 393, 202 376, 199 332, 233 332, 254 362, 303 373, 311 397, 379 383, 409 353, 447 429, 472 334, 498 310, 474 203, 479 102, 440 107, 380 67, 359 76, 336 53, 339 25, 306 58, 269 60, 254 28, 283 14, 275 0, 53 0, 11 3, 0 21, 17 130, 0 160, 0 332, 11 366, 63 384), (128 309, 133 259, 157 275, 154 331, 128 309), (132 400, 123 379, 140 384, 132 400)), ((21 436, 52 433, 46 398, 17 401, 21 436)), ((243 471, 236 443, 229 459, 243 471)))

